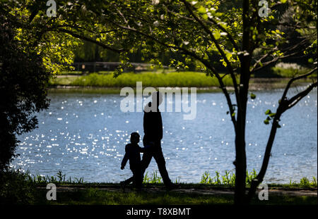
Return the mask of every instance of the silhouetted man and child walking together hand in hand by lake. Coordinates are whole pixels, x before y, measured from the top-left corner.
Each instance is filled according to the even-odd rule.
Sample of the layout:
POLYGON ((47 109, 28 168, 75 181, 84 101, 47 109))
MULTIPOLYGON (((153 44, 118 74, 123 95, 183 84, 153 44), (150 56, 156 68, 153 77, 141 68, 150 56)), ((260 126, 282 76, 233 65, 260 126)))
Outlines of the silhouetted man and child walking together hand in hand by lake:
POLYGON ((127 161, 129 160, 129 165, 133 176, 128 180, 120 182, 121 186, 124 188, 126 184, 133 182, 136 189, 141 189, 143 182, 143 174, 146 168, 148 168, 149 163, 151 163, 151 158, 155 158, 155 162, 158 164, 158 169, 165 187, 167 189, 174 189, 176 187, 169 178, 167 169, 165 168, 165 158, 163 157, 163 150, 161 148, 161 139, 163 138, 163 121, 161 118, 161 113, 159 111, 159 105, 163 101, 163 96, 159 92, 154 92, 152 94, 152 101, 149 102, 145 110, 143 111, 143 148, 139 146, 140 135, 137 132, 131 133, 130 142, 125 146, 125 155, 122 160, 123 170, 127 161), (141 160, 140 153, 143 153, 143 158, 141 160))

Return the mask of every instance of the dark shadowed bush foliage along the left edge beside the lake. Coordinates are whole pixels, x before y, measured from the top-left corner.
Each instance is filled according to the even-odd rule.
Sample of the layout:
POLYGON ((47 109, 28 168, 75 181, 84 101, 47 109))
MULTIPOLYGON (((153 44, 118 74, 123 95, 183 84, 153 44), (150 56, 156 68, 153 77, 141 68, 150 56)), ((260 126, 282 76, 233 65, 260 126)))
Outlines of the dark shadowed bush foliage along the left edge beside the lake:
POLYGON ((49 73, 35 51, 15 38, 13 24, 0 15, 0 170, 15 156, 16 134, 37 125, 33 113, 49 106, 49 73))

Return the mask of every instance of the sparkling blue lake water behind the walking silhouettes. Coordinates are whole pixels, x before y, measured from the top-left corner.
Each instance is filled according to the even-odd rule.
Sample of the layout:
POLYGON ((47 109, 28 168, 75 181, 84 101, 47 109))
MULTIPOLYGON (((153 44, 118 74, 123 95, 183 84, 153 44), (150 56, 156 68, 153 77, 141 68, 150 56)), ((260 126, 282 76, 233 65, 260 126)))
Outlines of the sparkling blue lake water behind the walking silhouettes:
MULTIPOLYGON (((264 112, 276 110, 282 90, 254 94, 257 98, 248 102, 246 150, 248 170, 258 171, 271 127, 263 123, 264 112)), ((49 94, 49 99, 49 109, 38 114, 39 127, 19 137, 20 156, 13 167, 41 175, 61 170, 66 177, 83 177, 86 182, 119 182, 131 176, 128 164, 120 170, 120 163, 129 134, 139 131, 143 137, 143 113, 120 111, 119 94, 66 92, 49 94)), ((196 99, 194 120, 183 120, 182 113, 162 113, 167 170, 180 182, 200 182, 205 171, 212 176, 215 171, 234 171, 234 132, 224 95, 198 93, 196 99)), ((281 126, 265 181, 317 177, 317 89, 283 114, 281 126)), ((146 171, 155 170, 152 160, 146 171)))

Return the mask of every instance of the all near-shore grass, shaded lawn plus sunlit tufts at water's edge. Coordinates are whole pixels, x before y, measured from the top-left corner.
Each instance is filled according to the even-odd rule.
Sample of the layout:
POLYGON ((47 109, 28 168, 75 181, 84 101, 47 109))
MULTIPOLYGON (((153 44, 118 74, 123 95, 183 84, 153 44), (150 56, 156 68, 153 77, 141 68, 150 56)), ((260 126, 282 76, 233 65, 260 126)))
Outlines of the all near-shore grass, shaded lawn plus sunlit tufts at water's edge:
MULTIPOLYGON (((256 175, 255 170, 247 173, 247 184, 252 177, 256 175)), ((208 172, 202 175, 200 183, 180 183, 180 189, 191 188, 233 188, 235 175, 230 171, 225 171, 225 175, 216 173, 216 177, 211 177, 208 172)), ((151 175, 146 173, 144 179, 145 187, 164 187, 162 178, 158 173, 153 172, 151 175)), ((179 183, 179 179, 175 182, 179 183)), ((0 177, 0 204, 107 204, 107 205, 136 205, 136 204, 233 204, 232 194, 195 194, 179 192, 111 192, 102 190, 101 187, 119 187, 116 183, 98 183, 85 182, 83 177, 73 178, 66 177, 61 171, 54 176, 30 175, 22 173, 19 170, 9 170, 1 173, 0 177), (73 190, 57 192, 57 201, 47 201, 45 189, 46 185, 52 182, 57 185, 69 185, 73 190), (37 188, 42 187, 42 189, 37 188)), ((313 177, 310 181, 306 177, 300 180, 300 183, 291 182, 290 184, 269 184, 270 188, 285 187, 293 188, 317 188, 317 180, 313 177)), ((259 201, 257 197, 252 204, 315 204, 315 196, 285 196, 271 195, 269 201, 259 201)))

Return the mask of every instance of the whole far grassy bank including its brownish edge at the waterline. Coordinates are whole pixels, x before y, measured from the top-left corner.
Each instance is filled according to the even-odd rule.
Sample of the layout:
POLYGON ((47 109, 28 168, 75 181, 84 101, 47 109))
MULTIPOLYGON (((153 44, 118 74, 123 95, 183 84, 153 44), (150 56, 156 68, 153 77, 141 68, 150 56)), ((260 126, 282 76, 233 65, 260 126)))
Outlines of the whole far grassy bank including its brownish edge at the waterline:
MULTIPOLYGON (((252 77, 249 85, 251 91, 263 89, 284 88, 294 70, 274 68, 275 77, 252 77)), ((216 77, 206 76, 198 72, 168 72, 162 70, 141 73, 122 73, 113 77, 110 72, 91 73, 88 75, 58 75, 49 81, 50 92, 75 92, 93 94, 118 94, 122 87, 136 88, 136 82, 142 82, 144 87, 196 87, 196 92, 220 92, 220 85, 216 77)), ((223 78, 225 86, 232 89, 229 75, 223 78)), ((303 86, 310 83, 310 79, 302 79, 293 83, 303 86)))

